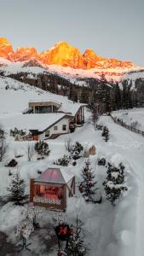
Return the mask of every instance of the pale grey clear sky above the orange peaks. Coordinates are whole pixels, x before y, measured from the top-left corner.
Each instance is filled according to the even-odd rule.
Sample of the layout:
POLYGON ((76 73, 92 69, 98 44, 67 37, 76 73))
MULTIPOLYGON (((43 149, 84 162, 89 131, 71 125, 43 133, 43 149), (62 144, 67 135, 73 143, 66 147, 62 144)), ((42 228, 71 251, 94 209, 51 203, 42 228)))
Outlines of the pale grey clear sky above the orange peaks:
POLYGON ((144 0, 0 0, 0 37, 38 51, 66 41, 144 66, 144 0))

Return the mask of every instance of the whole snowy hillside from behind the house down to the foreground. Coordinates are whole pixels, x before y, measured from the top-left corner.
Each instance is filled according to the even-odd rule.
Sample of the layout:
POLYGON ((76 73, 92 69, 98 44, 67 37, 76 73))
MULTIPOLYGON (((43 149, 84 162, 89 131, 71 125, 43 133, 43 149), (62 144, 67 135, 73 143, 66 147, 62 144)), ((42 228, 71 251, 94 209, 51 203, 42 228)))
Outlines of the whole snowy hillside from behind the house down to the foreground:
MULTIPOLYGON (((28 102, 35 99, 55 99, 56 102, 65 102, 65 106, 71 101, 67 97, 56 96, 49 92, 37 89, 28 84, 22 84, 14 79, 0 78, 0 124, 3 119, 11 119, 13 116, 22 115, 22 111, 27 108, 28 102), (9 85, 9 89, 6 87, 9 85)), ((125 116, 125 121, 133 118, 141 122, 141 129, 144 130, 143 109, 130 110, 125 116)), ((121 118, 122 113, 114 113, 121 118)), ((38 119, 37 119, 38 122, 38 119)), ((28 144, 34 145, 34 142, 14 141, 14 137, 6 132, 6 142, 8 149, 0 162, 0 235, 4 234, 9 255, 16 255, 16 245, 18 239, 14 230, 20 221, 26 218, 27 205, 24 207, 13 206, 11 202, 7 203, 7 187, 11 180, 9 172, 14 174, 17 167, 6 167, 9 160, 16 159, 20 169, 20 175, 26 181, 26 194, 29 194, 29 182, 31 177, 37 177, 38 171, 45 171, 48 166, 64 154, 66 151, 66 141, 71 138, 72 143, 78 141, 84 148, 95 145, 96 154, 89 156, 92 170, 95 172, 96 188, 102 195, 101 204, 87 203, 78 190, 79 183, 82 181, 81 171, 86 160, 81 157, 77 160, 77 165, 72 166, 70 162, 68 168, 76 177, 76 196, 68 201, 66 216, 70 223, 74 223, 78 214, 83 222, 84 242, 89 247, 89 256, 143 256, 144 255, 144 137, 124 129, 115 124, 109 116, 102 116, 99 123, 107 125, 109 129, 109 140, 106 143, 101 137, 101 131, 95 131, 91 120, 91 113, 86 113, 86 123, 77 128, 71 134, 66 134, 48 140, 50 154, 44 160, 37 160, 37 154, 34 153, 32 160, 28 161, 28 144), (15 158, 18 154, 20 158, 15 158), (110 201, 107 201, 102 183, 107 177, 107 165, 99 166, 98 160, 105 158, 107 163, 114 166, 123 163, 124 183, 128 190, 117 201, 115 207, 110 201), (1 233, 3 232, 3 233, 1 233)), ((99 194, 98 193, 98 194, 99 194)), ((26 251, 19 253, 20 256, 27 255, 49 255, 55 256, 57 253, 57 240, 54 240, 53 220, 55 212, 43 210, 39 216, 38 222, 40 229, 36 230, 32 236, 32 252, 26 251)), ((0 241, 1 243, 1 241, 0 241)), ((4 250, 4 249, 3 249, 4 250)), ((4 254, 6 255, 6 254, 4 254)), ((3 255, 3 256, 4 256, 3 255)))

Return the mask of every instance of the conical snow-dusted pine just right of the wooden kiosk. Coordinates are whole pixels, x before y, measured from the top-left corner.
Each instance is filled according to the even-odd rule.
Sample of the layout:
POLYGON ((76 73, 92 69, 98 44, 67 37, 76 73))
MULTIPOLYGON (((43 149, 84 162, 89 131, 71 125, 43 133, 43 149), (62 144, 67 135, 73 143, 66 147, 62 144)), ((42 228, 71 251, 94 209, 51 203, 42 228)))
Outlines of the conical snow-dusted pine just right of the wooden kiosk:
POLYGON ((82 177, 83 181, 79 185, 79 191, 84 196, 85 201, 95 202, 92 197, 95 195, 95 173, 91 171, 89 159, 85 162, 82 177))

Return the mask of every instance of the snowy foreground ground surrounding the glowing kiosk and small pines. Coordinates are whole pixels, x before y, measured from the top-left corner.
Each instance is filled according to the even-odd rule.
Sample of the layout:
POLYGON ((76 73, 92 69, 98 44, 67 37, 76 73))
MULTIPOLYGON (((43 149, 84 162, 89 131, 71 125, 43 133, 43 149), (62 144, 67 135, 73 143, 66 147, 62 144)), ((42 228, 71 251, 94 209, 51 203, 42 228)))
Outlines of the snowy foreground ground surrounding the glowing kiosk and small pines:
MULTIPOLYGON (((97 187, 102 188, 102 182, 107 175, 107 168, 97 166, 99 157, 106 157, 111 163, 118 165, 123 162, 126 166, 125 176, 128 192, 118 201, 116 207, 106 201, 104 191, 102 190, 103 201, 99 204, 86 204, 78 192, 78 183, 81 180, 81 170, 84 166, 84 159, 78 160, 77 166, 71 166, 72 173, 76 176, 77 196, 70 199, 66 215, 68 221, 72 223, 78 214, 84 225, 85 242, 89 244, 89 256, 143 256, 143 148, 144 141, 142 137, 125 130, 112 122, 110 117, 102 117, 101 122, 108 125, 110 130, 110 140, 105 143, 101 137, 101 131, 95 131, 92 124, 87 123, 83 127, 70 135, 57 138, 55 141, 49 141, 51 150, 49 157, 43 161, 37 161, 35 158, 27 161, 26 142, 14 142, 13 138, 8 137, 9 150, 0 164, 1 180, 0 195, 7 195, 6 187, 10 181, 9 170, 4 166, 14 154, 24 154, 19 161, 20 174, 26 180, 26 192, 29 192, 30 177, 37 177, 37 170, 44 171, 51 166, 54 160, 66 154, 65 142, 70 137, 72 142, 79 141, 86 147, 88 143, 93 143, 96 147, 96 155, 90 156, 93 171, 95 172, 97 187)), ((15 169, 11 169, 15 172, 15 169)), ((23 207, 21 215, 20 207, 6 205, 0 209, 0 230, 10 234, 9 240, 16 243, 14 236, 14 227, 20 223, 20 220, 26 216, 26 207, 23 207), (5 213, 4 213, 5 211, 5 213), (8 213, 9 212, 9 213, 8 213), (17 216, 14 219, 14 215, 17 216)), ((52 224, 54 212, 43 212, 42 217, 38 219, 43 232, 48 224, 52 224)), ((32 236, 32 252, 45 255, 46 244, 41 246, 41 236, 32 236), (37 239, 37 244, 35 240, 37 239), (41 248, 41 250, 40 250, 41 248)), ((55 252, 56 253, 56 252, 55 252)), ((54 255, 55 255, 54 253, 54 255)), ((20 254, 22 256, 23 254, 20 254)), ((53 255, 48 252, 47 255, 53 255)))

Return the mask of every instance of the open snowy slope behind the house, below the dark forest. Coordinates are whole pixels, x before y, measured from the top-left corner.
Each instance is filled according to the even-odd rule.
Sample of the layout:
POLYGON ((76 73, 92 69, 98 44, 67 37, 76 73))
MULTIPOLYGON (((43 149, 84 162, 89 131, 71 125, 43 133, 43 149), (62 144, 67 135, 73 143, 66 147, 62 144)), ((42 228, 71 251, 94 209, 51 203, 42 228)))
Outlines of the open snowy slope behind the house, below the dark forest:
POLYGON ((0 116, 19 114, 28 108, 28 102, 53 101, 61 105, 60 111, 75 114, 80 103, 72 102, 66 96, 55 95, 15 79, 0 77, 0 116))

